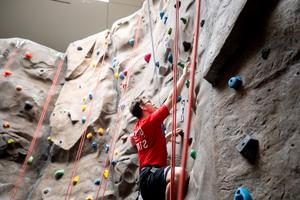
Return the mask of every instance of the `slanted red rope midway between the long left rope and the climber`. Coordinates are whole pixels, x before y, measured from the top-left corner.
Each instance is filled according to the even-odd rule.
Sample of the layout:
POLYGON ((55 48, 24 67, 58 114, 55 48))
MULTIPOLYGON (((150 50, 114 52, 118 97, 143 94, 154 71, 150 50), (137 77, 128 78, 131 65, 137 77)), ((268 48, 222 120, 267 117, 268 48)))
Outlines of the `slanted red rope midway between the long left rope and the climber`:
MULTIPOLYGON (((103 63, 104 63, 107 47, 108 47, 108 42, 106 41, 105 42, 105 47, 104 47, 105 51, 104 51, 104 54, 103 54, 103 57, 102 57, 101 65, 103 65, 103 63)), ((101 72, 101 70, 99 70, 99 74, 98 74, 98 77, 97 77, 97 83, 96 83, 96 86, 94 87, 93 94, 96 93, 96 91, 99 87, 100 77, 101 77, 100 72, 101 72)), ((95 101, 92 101, 91 108, 93 107, 94 102, 95 101)), ((86 122, 85 122, 85 125, 84 125, 84 133, 83 133, 83 135, 81 136, 81 139, 80 139, 80 144, 79 144, 77 154, 76 154, 76 158, 75 158, 75 161, 74 161, 74 164, 73 164, 72 175, 71 175, 71 178, 70 178, 70 181, 69 181, 69 185, 68 185, 67 193, 66 193, 66 196, 65 196, 65 200, 69 199, 70 194, 72 192, 72 188, 73 188, 72 182, 73 182, 73 178, 75 177, 75 174, 76 174, 77 169, 78 169, 78 163, 79 163, 79 160, 81 158, 81 153, 82 153, 82 150, 83 150, 85 137, 87 135, 87 128, 89 126, 91 115, 92 115, 92 109, 89 110, 87 118, 86 118, 86 122)))

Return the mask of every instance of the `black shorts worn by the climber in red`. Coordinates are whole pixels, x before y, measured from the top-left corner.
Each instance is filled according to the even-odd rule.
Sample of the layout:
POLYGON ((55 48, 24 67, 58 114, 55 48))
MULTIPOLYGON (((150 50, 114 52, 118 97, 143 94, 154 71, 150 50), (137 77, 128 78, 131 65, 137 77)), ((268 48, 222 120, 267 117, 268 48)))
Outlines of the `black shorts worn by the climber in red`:
POLYGON ((166 178, 170 167, 144 167, 140 172, 140 190, 143 200, 164 200, 166 178))

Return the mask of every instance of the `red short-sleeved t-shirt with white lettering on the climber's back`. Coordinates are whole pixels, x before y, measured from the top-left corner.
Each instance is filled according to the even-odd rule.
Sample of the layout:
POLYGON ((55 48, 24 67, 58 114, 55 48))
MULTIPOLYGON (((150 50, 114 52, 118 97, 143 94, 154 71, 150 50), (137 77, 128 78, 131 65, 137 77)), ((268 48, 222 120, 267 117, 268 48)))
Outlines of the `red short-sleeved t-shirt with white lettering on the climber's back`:
POLYGON ((162 105, 146 119, 140 119, 134 126, 132 142, 138 149, 140 168, 147 165, 167 165, 166 139, 162 123, 169 115, 169 110, 162 105))

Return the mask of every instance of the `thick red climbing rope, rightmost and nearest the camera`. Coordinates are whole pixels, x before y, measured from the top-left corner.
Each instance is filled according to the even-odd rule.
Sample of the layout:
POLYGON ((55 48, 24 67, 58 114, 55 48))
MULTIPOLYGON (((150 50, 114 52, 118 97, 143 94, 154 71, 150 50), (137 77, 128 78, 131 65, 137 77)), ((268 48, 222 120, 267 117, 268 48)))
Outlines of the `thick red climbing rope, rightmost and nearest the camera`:
POLYGON ((190 137, 190 127, 191 127, 191 107, 194 98, 194 85, 195 85, 195 71, 197 65, 197 54, 198 54, 198 40, 199 40, 199 24, 200 24, 200 5, 201 0, 196 1, 196 15, 195 15, 195 24, 194 24, 194 48, 192 53, 192 69, 190 73, 191 84, 189 87, 189 101, 187 107, 187 123, 184 134, 184 142, 183 142, 183 151, 182 151, 182 162, 181 168, 183 169, 183 173, 180 176, 179 182, 179 190, 178 190, 178 200, 182 200, 184 196, 184 187, 185 187, 185 178, 186 178, 186 163, 187 163, 187 153, 189 147, 189 137, 190 137))

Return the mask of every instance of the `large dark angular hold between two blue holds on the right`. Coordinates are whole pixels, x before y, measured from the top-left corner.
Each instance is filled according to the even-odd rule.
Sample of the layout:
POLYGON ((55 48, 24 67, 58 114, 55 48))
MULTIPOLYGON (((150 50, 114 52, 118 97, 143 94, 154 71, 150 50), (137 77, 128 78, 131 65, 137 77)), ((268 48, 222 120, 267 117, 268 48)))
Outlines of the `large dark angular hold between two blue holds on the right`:
POLYGON ((258 140, 247 135, 240 141, 235 148, 240 152, 250 163, 254 164, 258 154, 258 140))

